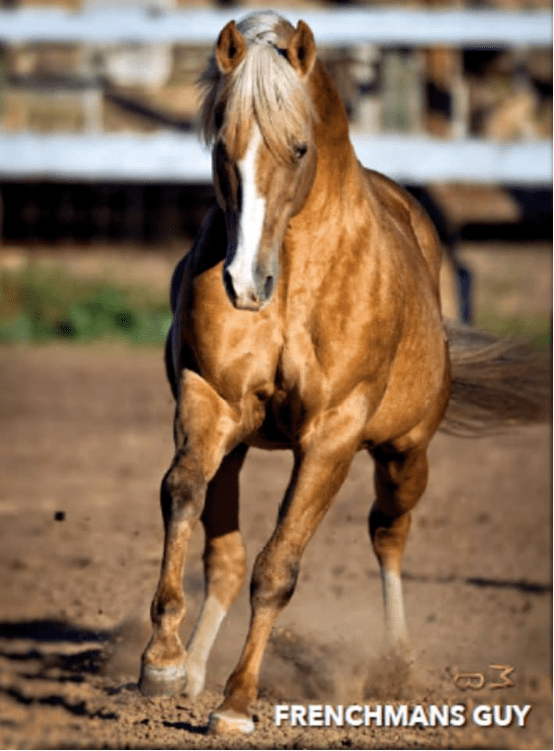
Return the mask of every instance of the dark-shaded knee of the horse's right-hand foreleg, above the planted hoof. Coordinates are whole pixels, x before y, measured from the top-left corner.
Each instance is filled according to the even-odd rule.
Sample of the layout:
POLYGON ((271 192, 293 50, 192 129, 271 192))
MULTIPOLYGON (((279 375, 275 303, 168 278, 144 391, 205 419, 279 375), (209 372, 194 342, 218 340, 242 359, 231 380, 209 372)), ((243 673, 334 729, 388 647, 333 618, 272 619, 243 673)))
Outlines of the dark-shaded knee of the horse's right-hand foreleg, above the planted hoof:
POLYGON ((292 597, 298 580, 298 559, 275 560, 264 550, 256 558, 250 600, 253 607, 280 610, 292 597))

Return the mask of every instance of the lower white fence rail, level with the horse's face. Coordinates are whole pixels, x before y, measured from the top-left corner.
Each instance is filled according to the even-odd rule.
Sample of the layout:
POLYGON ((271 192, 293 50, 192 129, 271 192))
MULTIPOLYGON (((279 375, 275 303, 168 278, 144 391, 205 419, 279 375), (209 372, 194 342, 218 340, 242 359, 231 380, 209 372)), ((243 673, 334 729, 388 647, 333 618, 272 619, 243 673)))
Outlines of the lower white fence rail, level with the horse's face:
MULTIPOLYGON (((386 135, 352 140, 362 164, 399 182, 541 187, 552 180, 552 146, 546 140, 441 141, 386 135)), ((0 178, 207 183, 211 157, 193 135, 4 135, 0 178)))

